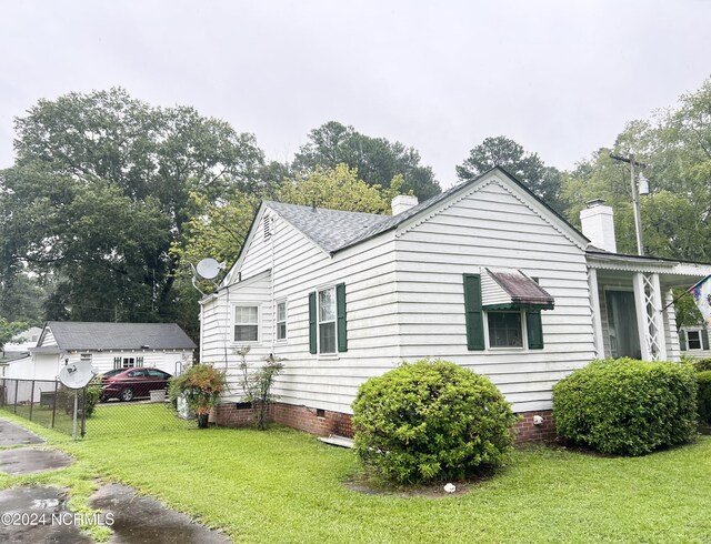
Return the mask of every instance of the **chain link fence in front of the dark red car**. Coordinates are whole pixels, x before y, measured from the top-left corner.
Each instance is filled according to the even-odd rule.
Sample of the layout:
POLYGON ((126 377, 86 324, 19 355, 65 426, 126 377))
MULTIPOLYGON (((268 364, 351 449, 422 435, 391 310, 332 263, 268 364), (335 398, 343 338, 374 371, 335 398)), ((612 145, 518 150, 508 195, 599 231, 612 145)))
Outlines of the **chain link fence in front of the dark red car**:
POLYGON ((77 437, 86 439, 197 426, 192 414, 168 399, 166 385, 164 380, 142 376, 120 384, 96 379, 70 390, 59 381, 0 379, 0 410, 71 436, 77 395, 77 437))

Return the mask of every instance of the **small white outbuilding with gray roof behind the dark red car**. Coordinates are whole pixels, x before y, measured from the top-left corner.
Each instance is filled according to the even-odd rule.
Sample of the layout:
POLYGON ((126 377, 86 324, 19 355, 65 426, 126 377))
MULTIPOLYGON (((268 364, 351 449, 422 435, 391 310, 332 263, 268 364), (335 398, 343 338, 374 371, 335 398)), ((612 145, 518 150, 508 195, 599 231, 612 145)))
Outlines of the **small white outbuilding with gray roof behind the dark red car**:
POLYGON ((7 377, 56 380, 63 365, 78 361, 89 361, 99 372, 152 366, 174 375, 192 364, 194 349, 176 323, 48 321, 30 349, 29 364, 7 377))

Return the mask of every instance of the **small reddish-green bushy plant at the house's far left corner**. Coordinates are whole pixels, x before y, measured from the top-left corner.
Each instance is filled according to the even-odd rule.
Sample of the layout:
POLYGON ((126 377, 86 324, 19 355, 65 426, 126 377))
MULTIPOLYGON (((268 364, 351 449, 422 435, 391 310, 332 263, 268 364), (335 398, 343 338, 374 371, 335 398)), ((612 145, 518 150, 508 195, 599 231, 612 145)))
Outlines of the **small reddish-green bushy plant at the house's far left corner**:
POLYGON ((170 380, 168 389, 171 400, 182 397, 198 417, 198 426, 208 426, 210 410, 220 402, 227 382, 224 372, 211 364, 194 364, 179 376, 170 380))

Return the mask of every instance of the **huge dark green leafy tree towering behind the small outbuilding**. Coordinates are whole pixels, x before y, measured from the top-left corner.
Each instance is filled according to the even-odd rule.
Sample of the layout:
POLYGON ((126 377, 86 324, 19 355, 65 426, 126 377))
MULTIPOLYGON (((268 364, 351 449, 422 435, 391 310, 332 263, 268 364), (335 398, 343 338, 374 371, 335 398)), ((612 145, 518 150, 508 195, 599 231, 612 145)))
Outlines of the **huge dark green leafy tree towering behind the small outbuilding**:
POLYGON ((253 137, 191 108, 153 108, 121 89, 40 100, 16 121, 17 160, 0 173, 3 271, 57 282, 51 314, 173 318, 180 255, 196 213, 264 185, 253 137))

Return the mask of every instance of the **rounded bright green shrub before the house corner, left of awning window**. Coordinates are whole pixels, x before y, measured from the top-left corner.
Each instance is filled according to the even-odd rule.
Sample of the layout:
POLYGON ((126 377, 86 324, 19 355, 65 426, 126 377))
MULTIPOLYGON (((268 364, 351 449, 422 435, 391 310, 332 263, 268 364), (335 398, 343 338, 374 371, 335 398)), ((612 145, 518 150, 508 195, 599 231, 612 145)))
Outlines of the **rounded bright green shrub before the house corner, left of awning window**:
POLYGON ((489 379, 454 363, 403 363, 358 390, 356 451, 400 483, 465 477, 500 464, 517 417, 489 379))

